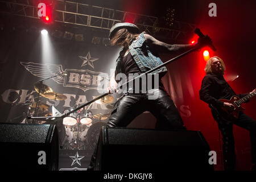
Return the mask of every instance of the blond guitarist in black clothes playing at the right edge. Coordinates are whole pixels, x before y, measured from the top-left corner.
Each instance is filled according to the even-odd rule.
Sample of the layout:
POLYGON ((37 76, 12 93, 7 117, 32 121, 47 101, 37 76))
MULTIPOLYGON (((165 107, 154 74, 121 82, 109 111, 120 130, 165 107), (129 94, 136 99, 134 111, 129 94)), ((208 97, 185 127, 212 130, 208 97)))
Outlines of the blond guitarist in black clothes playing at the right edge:
MULTIPOLYGON (((207 75, 203 78, 201 89, 199 91, 200 99, 209 104, 212 110, 213 118, 218 123, 218 129, 222 134, 223 141, 223 159, 224 169, 234 170, 236 167, 236 154, 234 152, 234 136, 233 136, 233 123, 246 130, 250 131, 251 140, 251 169, 255 170, 256 162, 256 121, 242 111, 239 112, 238 118, 225 117, 224 112, 220 110, 224 107, 228 110, 233 110, 234 105, 229 102, 220 101, 220 98, 230 100, 232 96, 240 98, 245 97, 247 94, 236 94, 229 84, 225 81, 223 75, 225 71, 225 64, 220 57, 214 56, 207 61, 204 71, 207 75)), ((252 92, 255 92, 254 89, 252 92)))

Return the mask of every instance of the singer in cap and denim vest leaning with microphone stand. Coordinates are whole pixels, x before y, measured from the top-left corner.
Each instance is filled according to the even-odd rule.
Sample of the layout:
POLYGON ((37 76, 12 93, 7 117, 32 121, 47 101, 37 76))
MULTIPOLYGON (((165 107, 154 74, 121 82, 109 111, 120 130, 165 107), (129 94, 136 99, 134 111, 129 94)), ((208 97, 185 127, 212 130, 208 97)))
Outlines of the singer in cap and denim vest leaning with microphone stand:
MULTIPOLYGON (((117 92, 115 77, 124 73, 129 80, 129 73, 147 72, 163 64, 159 53, 177 53, 187 51, 193 47, 203 47, 212 44, 208 36, 199 38, 196 44, 167 44, 156 40, 146 32, 139 33, 139 28, 132 23, 117 23, 110 29, 110 44, 122 47, 118 59, 115 61, 115 74, 110 78, 108 92, 117 92)), ((143 111, 150 111, 156 118, 156 129, 185 130, 186 127, 180 117, 174 101, 171 100, 162 84, 161 78, 167 73, 166 67, 161 67, 152 75, 159 75, 159 87, 147 90, 146 93, 134 93, 129 88, 128 93, 123 94, 109 118, 109 127, 126 127, 143 111), (158 93, 158 97, 150 100, 149 95, 158 93)), ((149 80, 147 80, 148 82, 149 80)), ((142 84, 141 84, 142 85, 142 84)), ((147 85, 147 84, 146 84, 147 85)), ((97 148, 96 148, 97 150, 97 148)), ((96 151, 95 150, 95 151, 96 151)), ((96 153, 94 152, 89 169, 93 169, 96 153)))

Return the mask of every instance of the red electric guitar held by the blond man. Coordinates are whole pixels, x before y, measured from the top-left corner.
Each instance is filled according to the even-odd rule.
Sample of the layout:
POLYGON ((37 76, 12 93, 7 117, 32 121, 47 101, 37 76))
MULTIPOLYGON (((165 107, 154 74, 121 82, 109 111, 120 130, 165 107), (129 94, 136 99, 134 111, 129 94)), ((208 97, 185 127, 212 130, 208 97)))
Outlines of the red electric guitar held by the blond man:
POLYGON ((248 101, 251 97, 253 97, 255 95, 256 95, 256 91, 254 91, 253 93, 248 94, 247 96, 245 96, 241 99, 237 96, 232 96, 230 100, 220 99, 220 101, 228 102, 228 103, 232 104, 234 107, 230 107, 230 109, 226 109, 226 107, 221 107, 221 110, 224 111, 224 112, 220 112, 219 114, 221 114, 222 118, 225 118, 225 119, 228 119, 228 120, 238 118, 239 111, 245 110, 245 108, 243 108, 241 106, 243 104, 243 102, 248 101))

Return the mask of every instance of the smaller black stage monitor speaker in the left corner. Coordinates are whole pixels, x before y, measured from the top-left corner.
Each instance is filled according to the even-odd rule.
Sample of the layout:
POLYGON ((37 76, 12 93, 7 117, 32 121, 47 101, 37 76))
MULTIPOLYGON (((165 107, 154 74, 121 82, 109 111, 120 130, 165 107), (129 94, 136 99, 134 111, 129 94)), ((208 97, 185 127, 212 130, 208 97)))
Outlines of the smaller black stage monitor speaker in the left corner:
POLYGON ((0 123, 0 144, 2 169, 58 169, 56 125, 0 123))

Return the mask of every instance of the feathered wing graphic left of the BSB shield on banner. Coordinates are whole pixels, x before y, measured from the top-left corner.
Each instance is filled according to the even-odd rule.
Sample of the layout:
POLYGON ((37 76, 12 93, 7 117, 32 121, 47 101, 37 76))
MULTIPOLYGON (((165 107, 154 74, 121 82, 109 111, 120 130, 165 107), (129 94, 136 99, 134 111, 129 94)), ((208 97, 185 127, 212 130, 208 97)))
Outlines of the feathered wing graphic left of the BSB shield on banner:
POLYGON ((59 64, 40 64, 40 63, 33 63, 33 62, 22 62, 20 64, 23 65, 24 68, 27 69, 32 75, 42 78, 48 78, 51 76, 53 77, 52 80, 56 81, 58 84, 64 83, 64 75, 60 75, 64 73, 62 69, 62 65, 59 64))

